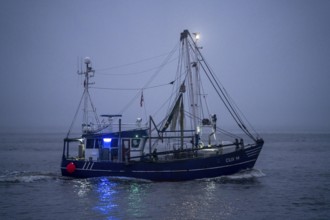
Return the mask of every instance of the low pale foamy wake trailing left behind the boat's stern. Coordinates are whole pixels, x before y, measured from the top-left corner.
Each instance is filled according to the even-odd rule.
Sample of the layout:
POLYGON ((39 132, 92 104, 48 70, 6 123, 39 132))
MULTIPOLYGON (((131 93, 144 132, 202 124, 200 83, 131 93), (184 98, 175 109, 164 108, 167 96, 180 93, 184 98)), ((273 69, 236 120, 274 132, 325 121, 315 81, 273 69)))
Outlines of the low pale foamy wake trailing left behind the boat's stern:
POLYGON ((56 180, 58 173, 31 172, 31 171, 7 171, 0 175, 1 183, 32 183, 38 181, 56 180))

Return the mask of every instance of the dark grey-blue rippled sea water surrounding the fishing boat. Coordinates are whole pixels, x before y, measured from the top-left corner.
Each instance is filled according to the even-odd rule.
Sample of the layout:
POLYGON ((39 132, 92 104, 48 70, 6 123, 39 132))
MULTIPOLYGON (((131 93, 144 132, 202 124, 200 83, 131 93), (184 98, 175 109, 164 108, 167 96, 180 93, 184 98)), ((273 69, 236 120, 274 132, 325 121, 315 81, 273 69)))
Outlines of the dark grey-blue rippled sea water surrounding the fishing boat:
POLYGON ((263 134, 254 169, 186 182, 61 177, 63 137, 0 133, 0 219, 330 219, 330 134, 263 134))

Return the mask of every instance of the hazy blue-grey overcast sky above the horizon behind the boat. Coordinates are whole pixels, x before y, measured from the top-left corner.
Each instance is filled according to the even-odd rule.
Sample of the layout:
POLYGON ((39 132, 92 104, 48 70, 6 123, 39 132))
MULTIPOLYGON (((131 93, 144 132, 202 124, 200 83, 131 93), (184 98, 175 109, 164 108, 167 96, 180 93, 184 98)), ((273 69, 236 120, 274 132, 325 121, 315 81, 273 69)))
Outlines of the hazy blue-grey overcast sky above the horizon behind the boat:
MULTIPOLYGON (((189 29, 201 33, 208 63, 257 130, 330 131, 329 11, 325 0, 2 0, 0 127, 68 128, 82 92, 78 57, 96 70, 132 63, 169 52, 189 29)), ((96 72, 94 81, 143 85, 104 75, 116 71, 133 70, 96 72)), ((99 114, 127 103, 93 95, 99 114)))

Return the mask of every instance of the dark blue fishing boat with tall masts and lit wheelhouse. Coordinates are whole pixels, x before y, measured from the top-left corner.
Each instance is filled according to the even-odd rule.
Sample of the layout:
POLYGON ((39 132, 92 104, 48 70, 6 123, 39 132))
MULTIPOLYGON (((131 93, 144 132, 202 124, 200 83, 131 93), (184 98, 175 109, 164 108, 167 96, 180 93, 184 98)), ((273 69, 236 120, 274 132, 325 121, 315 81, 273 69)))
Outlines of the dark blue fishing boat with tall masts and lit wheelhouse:
POLYGON ((79 72, 84 77, 84 91, 78 107, 83 108, 82 132, 71 137, 70 127, 64 138, 63 176, 187 181, 231 175, 254 167, 264 141, 250 128, 206 63, 196 37, 188 30, 180 34, 180 57, 175 80, 170 83, 173 92, 167 99, 171 104, 160 122, 148 115, 145 124, 141 118, 125 124, 122 114, 101 115, 100 122, 89 93, 95 70, 90 59, 84 60, 86 69, 79 72), (220 113, 228 112, 240 132, 225 130, 218 121, 222 118, 219 112, 209 111, 205 88, 215 91, 213 106, 220 113), (91 114, 96 118, 93 123, 91 114))

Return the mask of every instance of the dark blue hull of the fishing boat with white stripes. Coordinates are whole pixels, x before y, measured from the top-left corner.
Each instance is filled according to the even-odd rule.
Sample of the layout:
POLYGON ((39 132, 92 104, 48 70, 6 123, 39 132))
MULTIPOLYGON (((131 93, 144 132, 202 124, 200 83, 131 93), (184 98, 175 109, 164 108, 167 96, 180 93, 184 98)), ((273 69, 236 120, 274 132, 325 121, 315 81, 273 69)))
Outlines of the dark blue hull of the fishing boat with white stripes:
POLYGON ((113 163, 63 158, 61 171, 63 176, 75 178, 112 176, 152 181, 185 181, 230 175, 253 168, 261 149, 262 144, 257 144, 223 155, 157 162, 113 163), (70 163, 74 164, 71 172, 67 167, 70 163))

